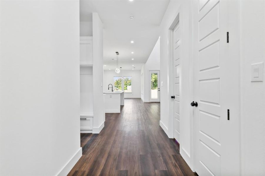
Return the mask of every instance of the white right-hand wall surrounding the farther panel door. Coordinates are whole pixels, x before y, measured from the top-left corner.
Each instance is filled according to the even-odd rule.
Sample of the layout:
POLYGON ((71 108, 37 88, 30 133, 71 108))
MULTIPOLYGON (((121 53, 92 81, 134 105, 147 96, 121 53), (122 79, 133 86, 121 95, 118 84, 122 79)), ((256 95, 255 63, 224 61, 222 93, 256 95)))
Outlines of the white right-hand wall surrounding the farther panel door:
POLYGON ((160 24, 160 126, 173 138, 173 62, 169 59, 169 28, 179 13, 181 29, 180 72, 180 153, 193 170, 193 115, 192 101, 192 1, 170 1, 160 24))

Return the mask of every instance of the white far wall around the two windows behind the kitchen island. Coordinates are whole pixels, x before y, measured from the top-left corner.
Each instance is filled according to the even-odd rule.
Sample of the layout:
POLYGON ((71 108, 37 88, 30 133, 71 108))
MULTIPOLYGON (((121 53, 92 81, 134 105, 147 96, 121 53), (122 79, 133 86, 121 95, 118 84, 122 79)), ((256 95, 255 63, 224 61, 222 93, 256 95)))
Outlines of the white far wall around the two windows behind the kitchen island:
MULTIPOLYGON (((122 70, 123 76, 131 76, 132 93, 124 93, 124 98, 141 98, 141 71, 140 70, 122 70)), ((114 86, 114 76, 120 76, 114 70, 104 70, 104 91, 108 91, 108 85, 114 86)))

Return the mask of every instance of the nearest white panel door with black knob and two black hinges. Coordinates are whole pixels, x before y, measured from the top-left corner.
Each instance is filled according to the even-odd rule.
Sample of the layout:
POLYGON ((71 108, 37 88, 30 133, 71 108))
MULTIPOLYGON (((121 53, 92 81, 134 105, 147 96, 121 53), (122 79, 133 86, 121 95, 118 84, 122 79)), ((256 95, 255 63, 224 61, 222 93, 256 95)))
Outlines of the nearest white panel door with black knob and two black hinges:
MULTIPOLYGON (((229 1, 194 0, 195 171, 239 175, 239 79, 236 50, 227 43, 229 1), (237 89, 235 89, 237 87, 237 89), (228 119, 228 109, 233 117, 228 119), (232 114, 232 113, 231 113, 232 114)), ((232 14, 233 15, 233 14, 232 14)))

